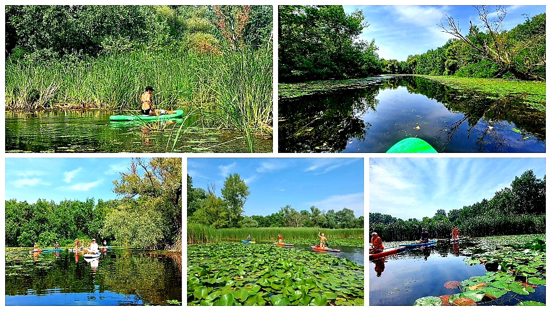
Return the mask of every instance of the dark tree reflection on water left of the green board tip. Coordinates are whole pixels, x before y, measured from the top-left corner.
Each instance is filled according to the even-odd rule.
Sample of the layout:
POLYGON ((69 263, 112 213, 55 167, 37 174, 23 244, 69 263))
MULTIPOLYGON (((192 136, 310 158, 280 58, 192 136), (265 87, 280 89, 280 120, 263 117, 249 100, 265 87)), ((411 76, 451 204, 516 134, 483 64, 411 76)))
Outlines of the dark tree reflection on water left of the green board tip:
POLYGON ((359 89, 279 102, 279 152, 338 152, 349 139, 364 140, 378 90, 359 89))

